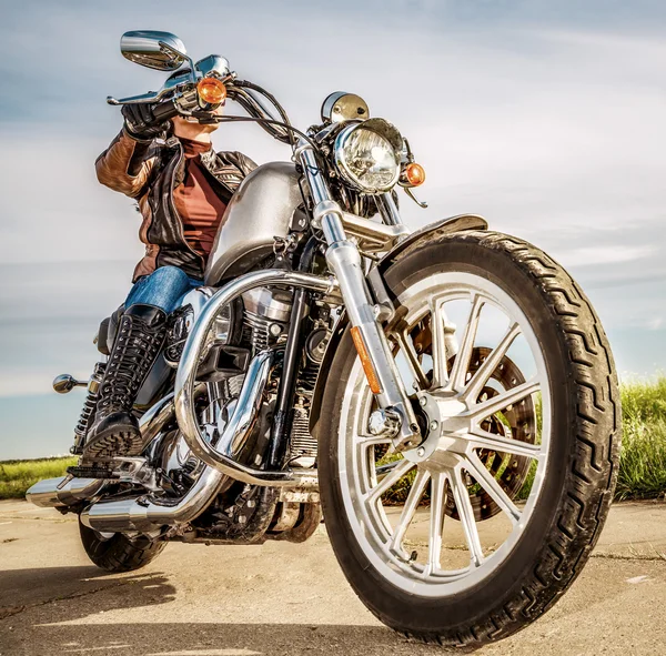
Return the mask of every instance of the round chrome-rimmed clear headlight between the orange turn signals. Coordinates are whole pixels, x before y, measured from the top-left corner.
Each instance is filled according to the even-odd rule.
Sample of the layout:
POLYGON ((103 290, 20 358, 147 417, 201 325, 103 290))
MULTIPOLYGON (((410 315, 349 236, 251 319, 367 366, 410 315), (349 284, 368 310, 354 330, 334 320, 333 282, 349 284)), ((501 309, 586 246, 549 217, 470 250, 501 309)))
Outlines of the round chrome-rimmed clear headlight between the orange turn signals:
POLYGON ((400 162, 395 149, 363 123, 342 130, 335 139, 334 157, 341 175, 361 191, 391 191, 397 182, 400 162))

